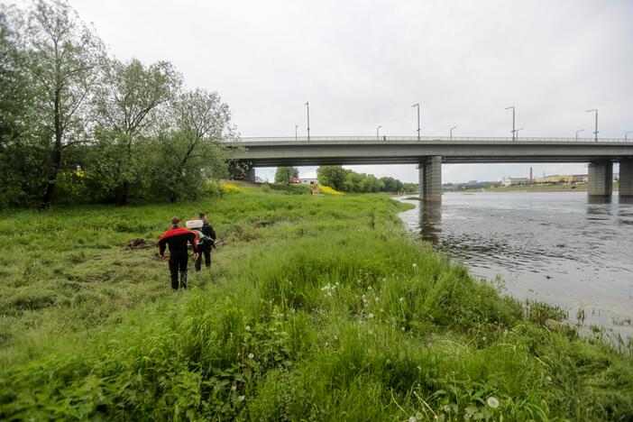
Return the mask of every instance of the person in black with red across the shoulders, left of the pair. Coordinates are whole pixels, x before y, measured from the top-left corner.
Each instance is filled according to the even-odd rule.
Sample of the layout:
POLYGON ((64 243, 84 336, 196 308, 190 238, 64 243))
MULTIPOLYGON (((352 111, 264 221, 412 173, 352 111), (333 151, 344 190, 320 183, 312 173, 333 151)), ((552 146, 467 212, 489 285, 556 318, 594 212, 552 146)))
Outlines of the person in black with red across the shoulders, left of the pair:
POLYGON ((194 260, 197 260, 196 234, 186 228, 179 227, 179 217, 171 218, 171 228, 161 235, 158 243, 161 260, 165 259, 165 249, 170 246, 170 277, 171 289, 178 290, 178 273, 180 271, 180 288, 187 289, 187 243, 191 243, 194 249, 194 260))

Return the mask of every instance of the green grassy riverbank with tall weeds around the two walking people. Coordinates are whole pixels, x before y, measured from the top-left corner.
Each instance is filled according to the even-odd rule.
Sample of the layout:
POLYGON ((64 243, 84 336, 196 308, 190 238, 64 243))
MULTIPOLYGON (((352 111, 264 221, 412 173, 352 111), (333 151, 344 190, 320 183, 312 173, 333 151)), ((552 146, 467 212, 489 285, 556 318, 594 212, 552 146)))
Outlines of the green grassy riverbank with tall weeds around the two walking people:
POLYGON ((384 196, 242 193, 0 216, 0 419, 631 420, 633 359, 543 326, 384 196), (212 274, 155 240, 209 212, 212 274))

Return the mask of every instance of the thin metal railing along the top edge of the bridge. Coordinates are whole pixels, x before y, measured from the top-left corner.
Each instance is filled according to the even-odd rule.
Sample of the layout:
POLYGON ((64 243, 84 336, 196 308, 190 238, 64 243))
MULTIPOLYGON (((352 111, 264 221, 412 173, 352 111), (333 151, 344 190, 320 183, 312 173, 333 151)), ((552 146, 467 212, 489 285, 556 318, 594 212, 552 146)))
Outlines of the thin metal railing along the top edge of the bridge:
MULTIPOLYGON (((249 136, 241 138, 242 142, 294 142, 305 141, 307 136, 249 136)), ((310 136, 313 141, 373 141, 373 142, 394 142, 394 141, 417 141, 417 136, 310 136)), ((595 142, 594 138, 564 138, 564 137, 519 137, 513 140, 511 137, 491 137, 491 136, 420 136, 419 142, 595 142)), ((598 142, 633 142, 633 139, 624 138, 598 138, 598 142)))

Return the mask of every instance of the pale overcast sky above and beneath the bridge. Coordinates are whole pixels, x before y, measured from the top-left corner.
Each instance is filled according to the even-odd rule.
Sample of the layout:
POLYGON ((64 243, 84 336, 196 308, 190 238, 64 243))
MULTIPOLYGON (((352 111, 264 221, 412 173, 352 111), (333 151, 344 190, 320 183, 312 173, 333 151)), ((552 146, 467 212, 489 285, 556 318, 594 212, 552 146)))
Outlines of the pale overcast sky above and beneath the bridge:
MULTIPOLYGON (((3 3, 11 3, 5 2, 3 3)), ((71 0, 120 60, 170 60, 216 90, 243 136, 600 136, 633 130, 633 1, 71 0)), ((529 164, 445 165, 445 181, 529 164)), ((585 172, 537 164, 535 174, 585 172)), ((415 166, 358 166, 417 181, 415 166)), ((315 168, 302 169, 309 175, 315 168)), ((272 170, 258 170, 271 178, 272 170)))

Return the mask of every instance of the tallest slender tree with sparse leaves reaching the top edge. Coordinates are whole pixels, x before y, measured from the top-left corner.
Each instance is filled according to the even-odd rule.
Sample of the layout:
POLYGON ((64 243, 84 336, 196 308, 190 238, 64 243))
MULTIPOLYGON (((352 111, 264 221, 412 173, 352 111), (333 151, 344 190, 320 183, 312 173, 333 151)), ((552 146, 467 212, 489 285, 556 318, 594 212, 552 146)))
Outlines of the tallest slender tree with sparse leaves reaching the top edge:
POLYGON ((77 12, 60 1, 39 0, 26 26, 26 49, 37 90, 34 108, 41 111, 41 142, 48 152, 42 169, 46 186, 41 196, 48 205, 55 191, 62 154, 83 142, 81 118, 104 58, 102 42, 82 23, 77 12))

